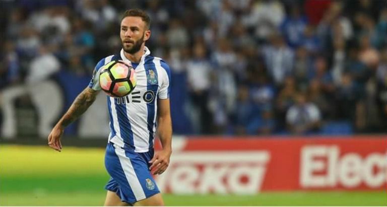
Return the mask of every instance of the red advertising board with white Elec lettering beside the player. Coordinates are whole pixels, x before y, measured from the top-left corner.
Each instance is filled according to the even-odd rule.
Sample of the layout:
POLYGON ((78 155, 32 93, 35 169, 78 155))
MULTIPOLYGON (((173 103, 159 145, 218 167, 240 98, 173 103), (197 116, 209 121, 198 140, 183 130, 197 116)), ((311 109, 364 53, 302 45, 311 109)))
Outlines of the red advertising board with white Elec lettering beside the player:
POLYGON ((170 166, 157 180, 162 191, 182 194, 382 190, 387 185, 387 140, 176 137, 170 166))

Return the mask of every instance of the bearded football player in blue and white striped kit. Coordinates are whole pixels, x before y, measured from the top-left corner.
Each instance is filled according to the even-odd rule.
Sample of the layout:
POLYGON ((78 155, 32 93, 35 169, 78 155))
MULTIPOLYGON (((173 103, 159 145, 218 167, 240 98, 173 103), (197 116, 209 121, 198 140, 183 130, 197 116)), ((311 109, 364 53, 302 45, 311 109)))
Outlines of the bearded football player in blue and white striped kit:
POLYGON ((112 60, 132 63, 137 74, 137 86, 132 94, 118 99, 107 96, 110 134, 105 167, 111 178, 105 186, 105 205, 164 205, 152 174, 161 174, 167 169, 172 153, 170 71, 169 66, 161 58, 151 56, 145 46, 151 36, 149 28, 150 18, 142 10, 131 9, 124 13, 120 25, 120 53, 97 63, 89 86, 78 95, 48 136, 48 145, 60 152, 63 129, 89 108, 101 89, 99 68, 112 60), (156 126, 162 150, 154 153, 156 126))

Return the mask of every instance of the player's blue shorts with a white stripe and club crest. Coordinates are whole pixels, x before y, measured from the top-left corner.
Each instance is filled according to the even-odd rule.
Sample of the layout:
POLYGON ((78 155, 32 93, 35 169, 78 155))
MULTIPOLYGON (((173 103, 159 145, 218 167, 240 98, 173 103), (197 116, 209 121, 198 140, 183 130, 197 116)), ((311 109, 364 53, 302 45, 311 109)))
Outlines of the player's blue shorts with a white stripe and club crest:
POLYGON ((159 193, 149 171, 148 162, 153 155, 153 150, 146 153, 129 152, 108 143, 105 167, 110 180, 105 189, 115 192, 122 201, 131 204, 159 193))

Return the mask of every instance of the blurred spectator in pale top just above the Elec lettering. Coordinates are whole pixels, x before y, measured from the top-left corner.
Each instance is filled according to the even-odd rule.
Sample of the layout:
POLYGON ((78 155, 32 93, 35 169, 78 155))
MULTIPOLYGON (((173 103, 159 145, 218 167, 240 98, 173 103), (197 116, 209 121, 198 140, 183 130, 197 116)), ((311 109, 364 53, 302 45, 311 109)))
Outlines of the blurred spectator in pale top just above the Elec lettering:
POLYGON ((318 132, 321 123, 320 110, 309 101, 305 94, 296 95, 296 104, 286 113, 288 129, 293 134, 308 134, 318 132))

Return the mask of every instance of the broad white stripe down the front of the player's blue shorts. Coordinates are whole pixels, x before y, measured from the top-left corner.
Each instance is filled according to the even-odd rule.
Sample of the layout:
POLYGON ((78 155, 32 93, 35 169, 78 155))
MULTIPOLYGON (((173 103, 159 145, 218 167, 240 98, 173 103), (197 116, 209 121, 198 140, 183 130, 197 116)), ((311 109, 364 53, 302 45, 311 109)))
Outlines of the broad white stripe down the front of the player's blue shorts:
POLYGON ((133 193, 135 194, 136 200, 141 200, 146 198, 144 189, 140 184, 139 178, 136 175, 135 169, 133 168, 131 159, 126 157, 125 151, 121 148, 115 148, 115 153, 121 163, 123 173, 129 186, 132 188, 133 193))

